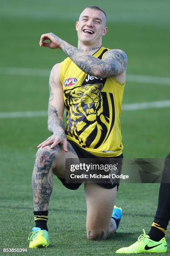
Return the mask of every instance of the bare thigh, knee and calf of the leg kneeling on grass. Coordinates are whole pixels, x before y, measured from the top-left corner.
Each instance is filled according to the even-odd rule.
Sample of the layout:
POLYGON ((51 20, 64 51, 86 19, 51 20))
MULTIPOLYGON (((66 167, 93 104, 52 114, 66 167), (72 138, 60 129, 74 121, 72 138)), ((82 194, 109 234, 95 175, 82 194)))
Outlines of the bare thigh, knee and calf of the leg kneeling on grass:
POLYGON ((95 183, 85 184, 87 204, 87 239, 104 240, 116 231, 116 223, 112 216, 117 195, 117 185, 106 189, 95 183))

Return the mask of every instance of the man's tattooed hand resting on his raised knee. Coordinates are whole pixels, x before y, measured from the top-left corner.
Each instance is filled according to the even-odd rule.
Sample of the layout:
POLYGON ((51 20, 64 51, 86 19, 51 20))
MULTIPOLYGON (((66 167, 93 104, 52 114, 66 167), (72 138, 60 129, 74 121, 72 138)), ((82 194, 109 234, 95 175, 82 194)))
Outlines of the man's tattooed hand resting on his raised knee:
POLYGON ((46 141, 43 141, 40 143, 37 148, 44 148, 45 146, 51 145, 50 148, 54 148, 58 144, 61 144, 63 146, 63 151, 68 152, 67 150, 67 139, 65 137, 64 131, 60 131, 57 133, 57 135, 52 135, 49 138, 46 139, 46 141))

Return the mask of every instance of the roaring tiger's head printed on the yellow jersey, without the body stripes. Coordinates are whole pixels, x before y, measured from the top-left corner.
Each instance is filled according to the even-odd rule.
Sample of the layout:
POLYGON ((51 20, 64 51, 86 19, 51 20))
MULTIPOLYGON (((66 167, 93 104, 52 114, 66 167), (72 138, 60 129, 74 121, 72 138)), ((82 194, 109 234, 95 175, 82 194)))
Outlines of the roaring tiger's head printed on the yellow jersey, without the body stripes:
MULTIPOLYGON (((102 84, 87 84, 65 90, 65 103, 70 107, 69 121, 95 123, 102 114, 102 84)), ((78 124, 78 123, 77 123, 78 124)))

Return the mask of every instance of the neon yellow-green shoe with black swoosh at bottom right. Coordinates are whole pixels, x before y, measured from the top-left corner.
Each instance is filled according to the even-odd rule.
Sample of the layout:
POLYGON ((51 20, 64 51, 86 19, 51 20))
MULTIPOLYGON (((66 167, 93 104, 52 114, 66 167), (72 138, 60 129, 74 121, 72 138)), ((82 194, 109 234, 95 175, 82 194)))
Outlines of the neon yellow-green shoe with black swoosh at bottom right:
POLYGON ((129 247, 120 248, 116 253, 165 253, 167 251, 167 243, 165 237, 159 242, 155 242, 146 235, 143 229, 143 234, 139 236, 138 241, 129 247))

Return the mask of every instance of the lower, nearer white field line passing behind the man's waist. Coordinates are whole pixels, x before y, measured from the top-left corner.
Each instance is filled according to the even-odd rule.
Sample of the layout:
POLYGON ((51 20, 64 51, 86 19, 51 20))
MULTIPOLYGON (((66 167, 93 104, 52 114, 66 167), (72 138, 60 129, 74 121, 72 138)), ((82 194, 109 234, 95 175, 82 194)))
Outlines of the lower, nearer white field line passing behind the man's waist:
MULTIPOLYGON (((170 100, 142 102, 122 105, 123 111, 132 111, 148 108, 165 108, 170 107, 170 100)), ((47 111, 25 111, 25 112, 1 112, 0 118, 31 118, 38 116, 47 116, 47 111)))

